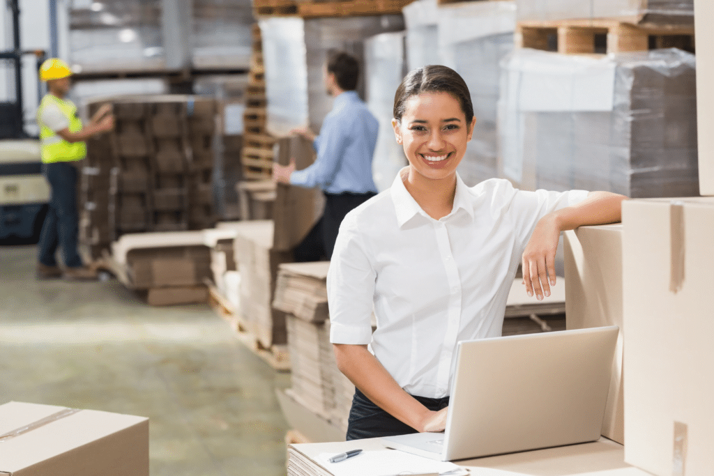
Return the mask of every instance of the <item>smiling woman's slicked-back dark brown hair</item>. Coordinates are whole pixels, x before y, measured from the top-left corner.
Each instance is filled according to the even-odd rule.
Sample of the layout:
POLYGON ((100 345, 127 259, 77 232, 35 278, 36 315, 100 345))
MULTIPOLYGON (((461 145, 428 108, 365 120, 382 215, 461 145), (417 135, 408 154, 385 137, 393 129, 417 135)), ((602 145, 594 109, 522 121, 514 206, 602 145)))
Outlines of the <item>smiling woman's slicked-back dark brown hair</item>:
POLYGON ((456 71, 446 66, 422 66, 410 71, 394 94, 394 118, 401 121, 406 108, 406 101, 419 93, 448 93, 460 104, 466 116, 466 124, 473 119, 471 93, 463 78, 456 71))

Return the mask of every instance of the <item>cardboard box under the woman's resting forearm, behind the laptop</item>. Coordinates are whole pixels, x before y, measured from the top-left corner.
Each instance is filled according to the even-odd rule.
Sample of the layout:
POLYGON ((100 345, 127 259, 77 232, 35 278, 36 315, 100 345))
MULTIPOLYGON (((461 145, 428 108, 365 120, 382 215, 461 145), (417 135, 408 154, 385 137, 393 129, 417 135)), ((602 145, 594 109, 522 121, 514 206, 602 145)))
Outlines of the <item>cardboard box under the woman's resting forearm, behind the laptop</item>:
POLYGON ((617 325, 604 437, 625 442, 623 408, 622 225, 583 226, 565 233, 565 320, 568 329, 617 325))

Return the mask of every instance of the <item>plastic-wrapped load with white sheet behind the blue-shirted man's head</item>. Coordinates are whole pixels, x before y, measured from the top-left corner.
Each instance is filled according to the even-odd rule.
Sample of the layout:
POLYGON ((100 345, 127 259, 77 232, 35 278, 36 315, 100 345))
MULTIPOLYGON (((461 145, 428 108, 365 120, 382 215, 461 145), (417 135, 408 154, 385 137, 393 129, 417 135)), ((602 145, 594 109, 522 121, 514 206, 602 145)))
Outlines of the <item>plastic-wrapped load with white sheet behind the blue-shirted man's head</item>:
MULTIPOLYGON (((332 108, 323 81, 323 66, 331 50, 347 51, 363 64, 363 41, 369 36, 401 31, 401 15, 346 18, 261 19, 263 63, 268 96, 268 131, 286 135, 291 128, 318 131, 332 108)), ((364 97, 364 75, 358 83, 364 97)))

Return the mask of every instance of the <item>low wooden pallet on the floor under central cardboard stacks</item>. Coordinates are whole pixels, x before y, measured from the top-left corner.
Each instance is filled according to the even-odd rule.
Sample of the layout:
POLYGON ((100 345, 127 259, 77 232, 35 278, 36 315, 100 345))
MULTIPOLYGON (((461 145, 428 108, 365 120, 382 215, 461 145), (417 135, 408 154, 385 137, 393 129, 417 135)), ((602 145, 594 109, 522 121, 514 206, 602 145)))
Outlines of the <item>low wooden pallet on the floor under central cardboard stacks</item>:
POLYGON ((258 338, 248 330, 239 313, 221 295, 216 286, 210 280, 206 280, 206 285, 208 286, 208 304, 211 305, 216 314, 231 326, 238 340, 273 369, 278 372, 289 372, 290 354, 288 353, 288 346, 273 345, 271 348, 265 348, 258 338))

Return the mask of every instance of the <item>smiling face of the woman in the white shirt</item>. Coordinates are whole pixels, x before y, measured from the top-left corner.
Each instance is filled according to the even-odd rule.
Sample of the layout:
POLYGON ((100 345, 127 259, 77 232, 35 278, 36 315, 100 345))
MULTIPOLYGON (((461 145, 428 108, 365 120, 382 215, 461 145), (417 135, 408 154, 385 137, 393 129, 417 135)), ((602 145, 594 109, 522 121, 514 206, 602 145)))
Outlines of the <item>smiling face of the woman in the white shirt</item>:
POLYGON ((458 100, 442 92, 411 96, 401 121, 392 121, 397 142, 402 144, 413 170, 435 180, 456 171, 475 123, 473 118, 467 124, 458 100))

